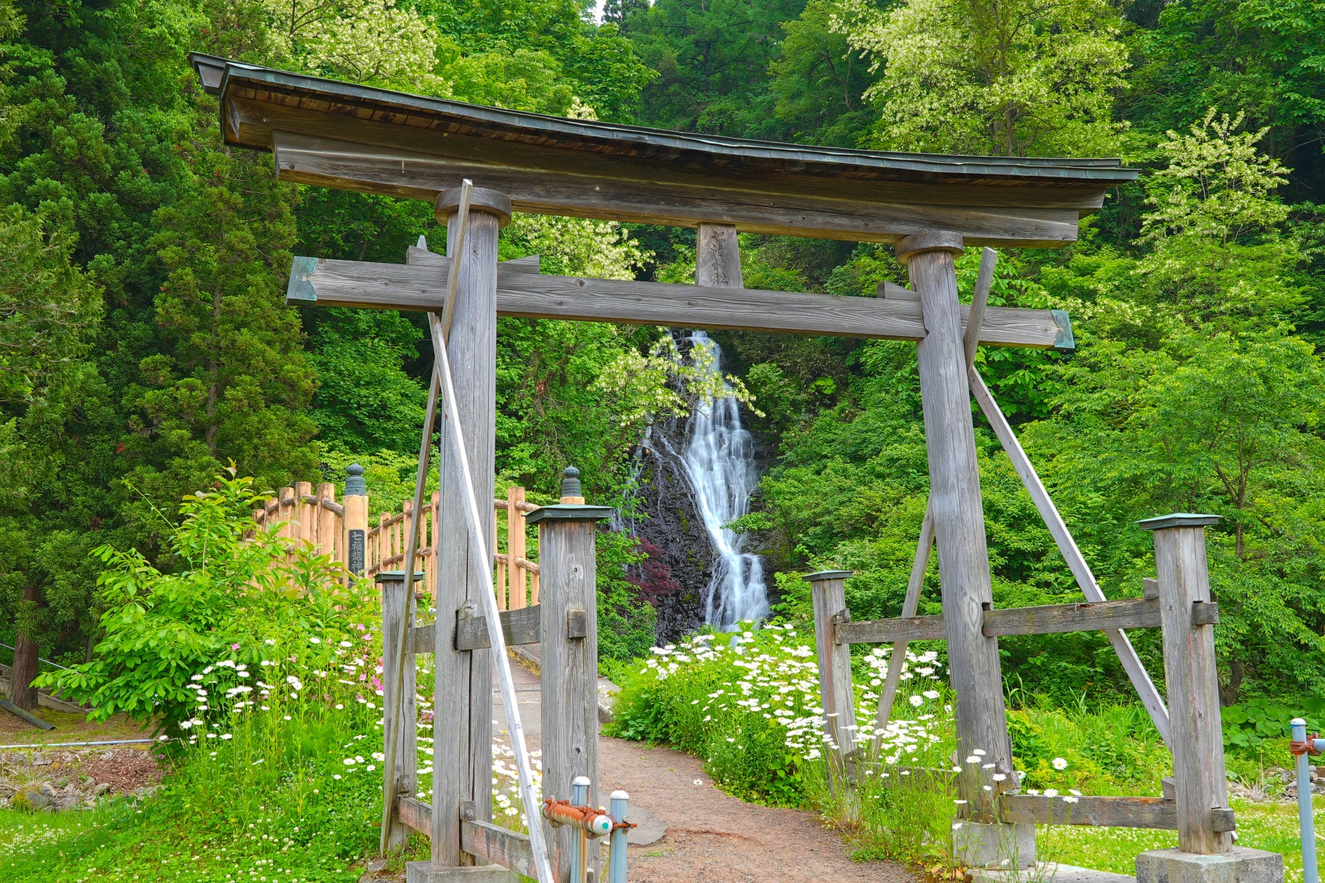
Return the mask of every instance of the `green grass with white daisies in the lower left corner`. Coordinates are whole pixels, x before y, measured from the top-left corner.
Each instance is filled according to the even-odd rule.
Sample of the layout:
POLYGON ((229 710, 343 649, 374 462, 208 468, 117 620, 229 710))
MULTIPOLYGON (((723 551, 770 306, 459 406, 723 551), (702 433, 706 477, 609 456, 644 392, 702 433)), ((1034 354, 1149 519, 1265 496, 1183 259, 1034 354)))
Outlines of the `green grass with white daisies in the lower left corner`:
POLYGON ((382 712, 367 679, 380 641, 366 627, 342 637, 321 655, 286 649, 252 673, 232 659, 199 673, 197 716, 160 749, 171 774, 154 798, 0 810, 0 880, 356 879, 380 831, 382 712))

